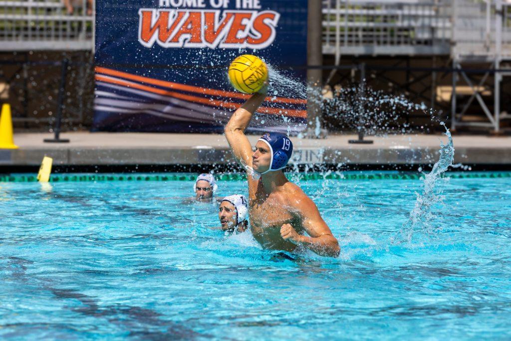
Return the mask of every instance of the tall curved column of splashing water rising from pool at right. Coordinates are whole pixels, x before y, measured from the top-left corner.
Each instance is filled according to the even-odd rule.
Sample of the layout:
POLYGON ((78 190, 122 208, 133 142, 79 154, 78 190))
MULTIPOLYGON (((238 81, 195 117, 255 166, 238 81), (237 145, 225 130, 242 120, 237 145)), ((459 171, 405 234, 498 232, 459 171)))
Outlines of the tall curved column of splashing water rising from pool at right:
POLYGON ((436 184, 438 180, 454 161, 454 144, 451 137, 451 132, 445 126, 444 122, 440 122, 446 129, 446 136, 448 143, 444 145, 440 142, 440 157, 433 165, 430 173, 424 177, 424 189, 422 194, 417 195, 415 207, 410 212, 410 216, 401 230, 391 240, 392 243, 410 242, 414 234, 419 232, 431 232, 428 222, 432 218, 431 207, 433 204, 440 201, 436 184))

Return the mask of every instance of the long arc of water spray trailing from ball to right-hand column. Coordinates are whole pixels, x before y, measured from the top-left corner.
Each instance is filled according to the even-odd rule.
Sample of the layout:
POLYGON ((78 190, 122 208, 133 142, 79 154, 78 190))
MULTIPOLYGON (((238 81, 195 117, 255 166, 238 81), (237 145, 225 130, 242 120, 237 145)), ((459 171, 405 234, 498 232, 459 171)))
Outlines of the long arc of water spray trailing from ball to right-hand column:
MULTIPOLYGON (((408 220, 396 236, 391 239, 391 243, 410 242, 415 233, 419 235, 419 233, 429 232, 429 222, 433 218, 431 208, 441 199, 437 190, 438 181, 442 174, 453 165, 454 160, 454 145, 451 133, 444 122, 439 122, 438 118, 435 117, 434 110, 427 108, 424 103, 414 103, 404 95, 387 94, 361 84, 337 87, 329 98, 324 96, 324 92, 323 94, 318 93, 319 89, 317 87, 314 89, 307 88, 303 82, 288 75, 285 71, 276 70, 271 65, 268 65, 268 68, 271 80, 268 92, 270 96, 304 98, 306 94, 314 92, 317 96, 312 96, 312 98, 319 101, 317 104, 321 107, 323 117, 326 116, 327 120, 337 120, 337 127, 344 126, 350 130, 361 128, 366 134, 408 133, 411 131, 410 124, 404 122, 403 119, 410 112, 416 111, 422 112, 425 117, 429 117, 431 123, 439 123, 445 128, 448 143, 446 145, 440 143, 440 157, 431 172, 425 174, 422 193, 417 194, 415 206, 410 212, 408 220)), ((285 123, 287 123, 289 132, 292 129, 290 126, 294 123, 285 123)), ((312 123, 311 128, 316 135, 319 135, 319 119, 312 123)), ((423 132, 428 130, 422 126, 421 128, 423 128, 423 132)), ((298 134, 298 137, 302 136, 304 135, 298 134)), ((319 167, 315 165, 313 167, 309 164, 303 164, 300 166, 303 169, 299 169, 298 165, 294 164, 294 170, 296 172, 305 171, 306 173, 310 170, 319 170, 323 176, 326 176, 330 171, 323 167, 325 165, 319 165, 319 167)), ((291 178, 297 184, 300 183, 298 176, 291 175, 291 178)), ((330 188, 327 183, 328 181, 325 179, 323 190, 330 188)), ((316 195, 322 195, 321 191, 316 195)))

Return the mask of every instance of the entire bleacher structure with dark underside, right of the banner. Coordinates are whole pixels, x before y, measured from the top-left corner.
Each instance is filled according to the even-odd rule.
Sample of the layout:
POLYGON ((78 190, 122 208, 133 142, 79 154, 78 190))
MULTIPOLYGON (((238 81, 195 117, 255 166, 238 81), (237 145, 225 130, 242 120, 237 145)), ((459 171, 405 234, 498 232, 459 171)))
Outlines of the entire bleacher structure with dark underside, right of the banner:
POLYGON ((324 1, 323 65, 338 69, 323 80, 356 79, 356 65, 364 65, 369 85, 425 103, 452 130, 500 132, 511 117, 510 6, 501 0, 324 1))

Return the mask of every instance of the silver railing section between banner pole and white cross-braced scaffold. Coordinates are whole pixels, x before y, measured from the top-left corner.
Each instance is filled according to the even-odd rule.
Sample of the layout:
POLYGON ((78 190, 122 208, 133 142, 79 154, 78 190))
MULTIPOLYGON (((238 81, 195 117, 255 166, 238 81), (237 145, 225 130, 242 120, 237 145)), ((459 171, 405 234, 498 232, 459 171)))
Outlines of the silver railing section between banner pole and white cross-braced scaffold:
POLYGON ((323 53, 449 54, 448 0, 323 0, 323 53))

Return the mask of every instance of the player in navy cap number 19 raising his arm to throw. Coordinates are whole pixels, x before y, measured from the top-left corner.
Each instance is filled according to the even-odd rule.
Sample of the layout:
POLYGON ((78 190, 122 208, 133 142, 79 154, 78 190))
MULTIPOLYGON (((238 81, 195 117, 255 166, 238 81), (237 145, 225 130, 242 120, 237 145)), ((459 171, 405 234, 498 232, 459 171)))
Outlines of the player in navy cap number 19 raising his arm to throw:
POLYGON ((248 174, 250 230, 265 248, 292 252, 303 245, 318 255, 337 257, 339 243, 316 205, 284 175, 293 152, 287 135, 265 133, 252 151, 245 129, 265 97, 266 88, 252 95, 225 126, 230 148, 248 174))

